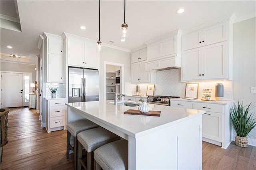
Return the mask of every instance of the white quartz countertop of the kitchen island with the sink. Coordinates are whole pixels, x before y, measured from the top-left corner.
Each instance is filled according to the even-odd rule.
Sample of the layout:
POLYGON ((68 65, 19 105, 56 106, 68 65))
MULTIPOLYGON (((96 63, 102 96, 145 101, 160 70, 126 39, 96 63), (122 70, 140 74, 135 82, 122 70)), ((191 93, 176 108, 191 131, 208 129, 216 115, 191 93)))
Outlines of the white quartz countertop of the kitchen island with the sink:
POLYGON ((125 115, 124 112, 128 109, 138 109, 138 107, 114 105, 110 102, 112 101, 90 101, 66 103, 66 105, 91 121, 108 125, 134 138, 205 113, 195 109, 148 104, 151 110, 161 111, 160 117, 125 115))

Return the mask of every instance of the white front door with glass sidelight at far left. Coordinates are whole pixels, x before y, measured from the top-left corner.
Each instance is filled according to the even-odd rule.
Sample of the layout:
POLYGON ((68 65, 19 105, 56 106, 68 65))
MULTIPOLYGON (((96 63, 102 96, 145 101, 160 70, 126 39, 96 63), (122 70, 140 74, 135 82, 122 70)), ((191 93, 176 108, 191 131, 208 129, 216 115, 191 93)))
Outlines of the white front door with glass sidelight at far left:
POLYGON ((1 72, 1 107, 28 106, 32 73, 1 72))

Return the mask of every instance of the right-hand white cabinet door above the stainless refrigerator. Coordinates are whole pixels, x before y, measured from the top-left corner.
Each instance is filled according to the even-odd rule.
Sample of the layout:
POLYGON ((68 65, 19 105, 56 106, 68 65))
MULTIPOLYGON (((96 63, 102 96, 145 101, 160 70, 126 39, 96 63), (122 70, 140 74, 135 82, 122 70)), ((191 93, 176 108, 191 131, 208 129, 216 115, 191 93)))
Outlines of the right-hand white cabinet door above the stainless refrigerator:
POLYGON ((98 53, 96 45, 85 44, 85 67, 98 68, 98 53))

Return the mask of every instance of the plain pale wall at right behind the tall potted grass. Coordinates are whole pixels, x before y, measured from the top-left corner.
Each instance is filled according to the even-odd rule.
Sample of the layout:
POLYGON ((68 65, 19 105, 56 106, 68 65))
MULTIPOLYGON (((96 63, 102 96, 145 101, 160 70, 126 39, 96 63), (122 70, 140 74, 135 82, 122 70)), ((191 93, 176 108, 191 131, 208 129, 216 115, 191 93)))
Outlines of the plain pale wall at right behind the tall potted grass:
MULTIPOLYGON (((256 105, 256 93, 251 93, 251 87, 256 87, 256 18, 233 24, 233 100, 256 105)), ((255 107, 252 111, 256 116, 255 107)), ((235 134, 233 131, 233 140, 235 134)), ((256 146, 256 129, 248 138, 249 144, 256 146)))

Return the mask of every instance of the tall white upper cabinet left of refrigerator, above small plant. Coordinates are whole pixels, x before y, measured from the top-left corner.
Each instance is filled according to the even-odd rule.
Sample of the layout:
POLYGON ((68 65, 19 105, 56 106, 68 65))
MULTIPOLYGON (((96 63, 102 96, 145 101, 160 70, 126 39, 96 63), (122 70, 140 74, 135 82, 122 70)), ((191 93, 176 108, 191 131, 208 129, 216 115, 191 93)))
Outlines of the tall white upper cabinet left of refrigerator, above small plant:
POLYGON ((63 39, 44 33, 46 38, 46 82, 63 83, 63 39))

